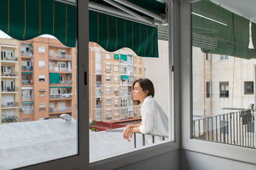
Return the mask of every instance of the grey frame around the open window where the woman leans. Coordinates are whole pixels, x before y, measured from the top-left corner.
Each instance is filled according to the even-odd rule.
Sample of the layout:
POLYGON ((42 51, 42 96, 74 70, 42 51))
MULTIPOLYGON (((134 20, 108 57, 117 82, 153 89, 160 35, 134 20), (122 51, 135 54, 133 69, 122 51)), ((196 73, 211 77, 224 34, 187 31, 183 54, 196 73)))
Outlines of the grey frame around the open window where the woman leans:
MULTIPOLYGON (((77 6, 77 46, 79 46, 77 53, 79 57, 79 62, 77 63, 77 72, 79 73, 84 73, 86 71, 89 73, 88 66, 89 64, 89 57, 88 57, 88 48, 83 48, 84 44, 88 44, 89 40, 89 35, 88 35, 88 18, 84 16, 88 16, 88 1, 83 1, 83 0, 77 0, 77 3, 79 4, 77 6)), ((175 11, 175 16, 179 15, 179 1, 170 1, 168 4, 168 9, 174 8, 175 11)), ((173 11, 169 12, 168 18, 173 18, 173 11)), ((188 10, 189 11, 189 10, 188 10)), ((189 15, 188 15, 189 16, 189 15)), ((171 19, 170 19, 171 20, 171 19)), ((174 21, 179 21, 178 18, 175 18, 174 21)), ((172 20, 172 22, 174 22, 172 20)), ((170 22, 170 21, 169 21, 170 22)), ((187 23, 188 24, 188 23, 187 23)), ((172 29, 176 29, 176 31, 179 31, 179 24, 173 24, 171 23, 172 27, 169 29, 169 35, 171 34, 172 29), (172 28, 172 29, 171 29, 172 28)), ((188 31, 189 32, 189 31, 188 31)), ((174 53, 174 56, 179 56, 179 38, 178 34, 174 34, 173 36, 170 36, 171 41, 175 43, 169 43, 169 50, 173 50, 172 53, 174 53), (176 46, 174 49, 172 49, 172 45, 176 46)), ((189 41, 187 41, 189 43, 189 41)), ((169 57, 172 58, 171 53, 169 53, 169 57)), ((172 60, 170 59, 169 62, 169 68, 172 66, 172 64, 177 64, 175 63, 178 62, 179 57, 177 59, 173 58, 173 63, 172 60), (171 64, 171 65, 170 65, 171 64)), ((179 62, 178 62, 179 63, 179 62)), ((178 66, 178 65, 177 65, 178 66)), ((172 72, 170 71, 170 81, 172 80, 172 72)), ((175 68, 175 71, 173 71, 174 78, 175 78, 175 84, 179 85, 179 81, 177 80, 179 78, 179 71, 178 67, 175 68), (177 71, 176 71, 177 69, 177 71)), ((84 74, 77 74, 79 77, 77 78, 77 111, 78 113, 83 113, 84 110, 89 110, 89 85, 84 85, 84 74), (80 95, 79 95, 80 94, 80 95)), ((88 76, 87 76, 88 79, 88 76)), ((172 89, 172 82, 170 83, 170 89, 172 89)), ((177 86, 179 88, 179 86, 177 86)), ((173 90, 173 97, 178 97, 179 99, 179 90, 175 91, 173 90)), ((172 97, 172 98, 173 98, 172 97)), ((68 156, 65 158, 57 159, 57 160, 51 160, 48 162, 44 162, 42 164, 36 164, 33 166, 26 167, 27 169, 49 169, 50 167, 58 167, 62 169, 72 168, 80 168, 80 169, 116 169, 118 167, 124 167, 130 164, 133 164, 135 162, 139 162, 145 159, 154 159, 157 155, 162 155, 163 153, 168 153, 172 152, 174 150, 179 151, 179 100, 175 98, 176 100, 174 102, 175 108, 172 106, 172 100, 170 100, 170 110, 172 113, 175 113, 175 116, 172 116, 175 118, 175 124, 172 124, 175 129, 172 130, 174 131, 174 134, 172 135, 174 140, 173 141, 166 141, 162 144, 159 145, 153 145, 150 147, 145 147, 140 150, 133 150, 129 152, 122 153, 122 157, 120 155, 116 154, 113 157, 106 158, 104 160, 99 160, 97 162, 90 163, 89 159, 89 118, 88 114, 79 114, 79 118, 77 120, 77 131, 79 138, 77 141, 77 155, 72 155, 68 156), (173 110, 174 109, 174 110, 173 110), (176 134, 176 135, 175 135, 176 134), (127 161, 129 160, 129 161, 127 161)), ((170 122, 172 122, 172 118, 170 117, 169 119, 170 122)), ((179 155, 177 155, 179 157, 179 155)))

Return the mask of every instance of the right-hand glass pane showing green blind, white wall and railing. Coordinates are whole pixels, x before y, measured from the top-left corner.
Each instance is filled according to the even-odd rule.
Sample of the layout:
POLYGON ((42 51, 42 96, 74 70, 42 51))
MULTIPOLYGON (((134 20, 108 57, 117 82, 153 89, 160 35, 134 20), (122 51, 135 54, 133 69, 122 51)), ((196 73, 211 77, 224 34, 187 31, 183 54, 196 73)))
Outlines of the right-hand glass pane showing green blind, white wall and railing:
POLYGON ((250 21, 211 1, 193 3, 191 15, 193 138, 255 148, 256 60, 248 44, 256 36, 250 21))

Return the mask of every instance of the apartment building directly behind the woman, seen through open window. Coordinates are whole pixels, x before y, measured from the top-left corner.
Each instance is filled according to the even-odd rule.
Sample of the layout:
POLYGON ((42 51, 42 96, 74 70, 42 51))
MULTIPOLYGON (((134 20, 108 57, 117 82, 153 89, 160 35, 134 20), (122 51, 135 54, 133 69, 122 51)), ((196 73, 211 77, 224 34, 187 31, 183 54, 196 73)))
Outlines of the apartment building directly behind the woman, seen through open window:
POLYGON ((128 48, 106 52, 97 43, 89 44, 89 55, 90 119, 140 117, 132 103, 132 81, 145 77, 143 58, 128 48))

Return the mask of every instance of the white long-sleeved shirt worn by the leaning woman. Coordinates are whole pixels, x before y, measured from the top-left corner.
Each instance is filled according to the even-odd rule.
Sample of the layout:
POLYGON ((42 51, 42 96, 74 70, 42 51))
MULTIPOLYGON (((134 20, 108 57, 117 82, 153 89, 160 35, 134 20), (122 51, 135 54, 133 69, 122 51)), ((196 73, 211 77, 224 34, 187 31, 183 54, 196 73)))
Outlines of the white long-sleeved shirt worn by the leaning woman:
MULTIPOLYGON (((168 117, 166 117, 163 109, 155 101, 152 96, 147 96, 140 108, 141 124, 140 132, 143 134, 161 134, 168 136, 168 117)), ((163 138, 155 136, 155 143, 162 141, 163 138)), ((146 143, 152 143, 152 136, 145 136, 146 143)))

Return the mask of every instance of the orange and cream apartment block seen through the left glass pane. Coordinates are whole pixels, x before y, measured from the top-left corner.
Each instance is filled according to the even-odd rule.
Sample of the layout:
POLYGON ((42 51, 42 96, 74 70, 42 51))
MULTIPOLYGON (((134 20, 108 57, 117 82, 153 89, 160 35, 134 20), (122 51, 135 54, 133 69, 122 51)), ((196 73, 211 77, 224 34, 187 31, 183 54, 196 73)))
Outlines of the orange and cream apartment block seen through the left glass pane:
POLYGON ((0 44, 1 123, 76 117, 75 48, 43 37, 0 44))

